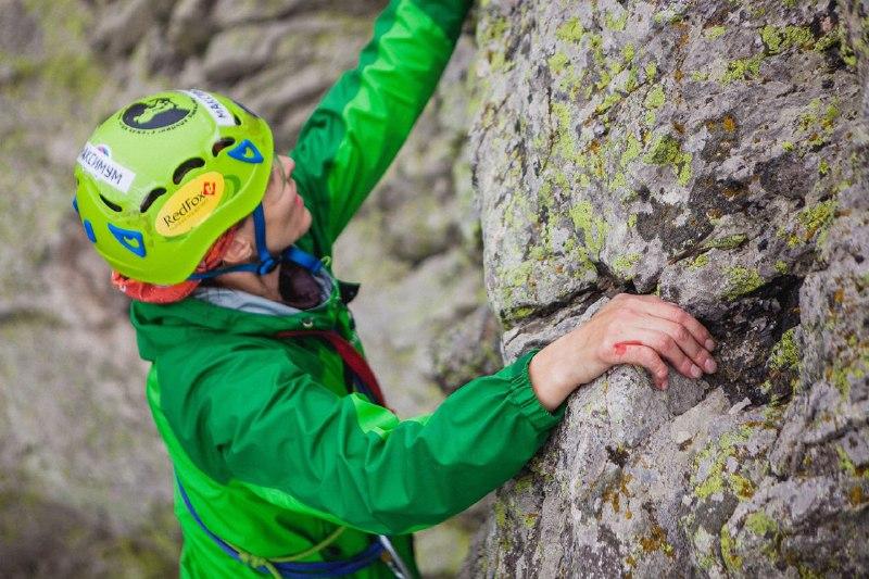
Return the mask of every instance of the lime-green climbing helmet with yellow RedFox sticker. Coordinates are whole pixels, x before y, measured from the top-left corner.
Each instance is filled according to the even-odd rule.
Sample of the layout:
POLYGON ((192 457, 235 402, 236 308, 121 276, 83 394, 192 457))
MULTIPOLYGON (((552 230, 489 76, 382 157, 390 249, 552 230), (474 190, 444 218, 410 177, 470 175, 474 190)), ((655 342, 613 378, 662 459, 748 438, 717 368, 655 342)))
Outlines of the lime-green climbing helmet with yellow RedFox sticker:
POLYGON ((85 143, 73 207, 113 269, 174 285, 262 201, 274 141, 265 121, 203 90, 121 109, 85 143))

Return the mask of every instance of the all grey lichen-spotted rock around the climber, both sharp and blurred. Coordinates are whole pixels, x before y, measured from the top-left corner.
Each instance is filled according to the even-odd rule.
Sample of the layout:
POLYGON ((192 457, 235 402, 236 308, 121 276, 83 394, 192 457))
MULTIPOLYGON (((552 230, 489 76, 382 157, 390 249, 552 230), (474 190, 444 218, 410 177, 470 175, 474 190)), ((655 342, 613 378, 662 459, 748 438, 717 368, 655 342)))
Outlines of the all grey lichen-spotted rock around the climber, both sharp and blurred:
MULTIPOLYGON (((70 212, 70 167, 101 116, 174 86, 232 93, 288 148, 383 1, 7 4, 0 568, 171 575, 146 367, 70 212)), ((868 15, 481 2, 476 47, 337 251, 391 403, 427 412, 619 291, 697 316, 720 370, 662 393, 618 367, 582 388, 516 479, 421 533, 427 577, 454 574, 442 553, 486 515, 466 576, 867 572, 868 15)))

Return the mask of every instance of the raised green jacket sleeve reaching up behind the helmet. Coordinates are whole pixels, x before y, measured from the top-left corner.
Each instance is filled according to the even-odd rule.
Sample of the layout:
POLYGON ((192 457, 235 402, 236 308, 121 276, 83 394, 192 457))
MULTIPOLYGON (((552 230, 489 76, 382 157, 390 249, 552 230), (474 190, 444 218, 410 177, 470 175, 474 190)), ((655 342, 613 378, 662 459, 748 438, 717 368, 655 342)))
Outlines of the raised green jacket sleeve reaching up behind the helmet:
POLYGON ((358 65, 327 92, 290 152, 329 246, 404 143, 446 66, 468 0, 392 0, 358 65))

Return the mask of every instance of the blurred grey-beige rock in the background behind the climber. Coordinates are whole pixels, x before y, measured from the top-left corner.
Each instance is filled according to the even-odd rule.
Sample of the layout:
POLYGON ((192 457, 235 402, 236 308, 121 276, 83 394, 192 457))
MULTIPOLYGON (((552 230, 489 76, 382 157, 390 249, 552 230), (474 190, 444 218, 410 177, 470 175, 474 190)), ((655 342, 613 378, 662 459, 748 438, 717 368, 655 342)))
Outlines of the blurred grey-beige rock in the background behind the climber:
MULTIPOLYGON (((147 367, 127 302, 70 207, 89 133, 136 97, 196 86, 264 115, 287 150, 355 64, 385 4, 0 0, 0 575, 177 572, 171 469, 143 399, 147 367)), ((482 305, 466 150, 473 55, 468 34, 336 250, 336 273, 363 282, 353 311, 405 417, 431 411, 439 386, 500 360, 498 325, 482 305), (482 336, 481 325, 486 340, 456 342, 482 336), (436 364, 446 360, 436 342, 467 367, 436 364)), ((478 511, 420 533, 427 576, 456 571, 479 520, 478 511)))

